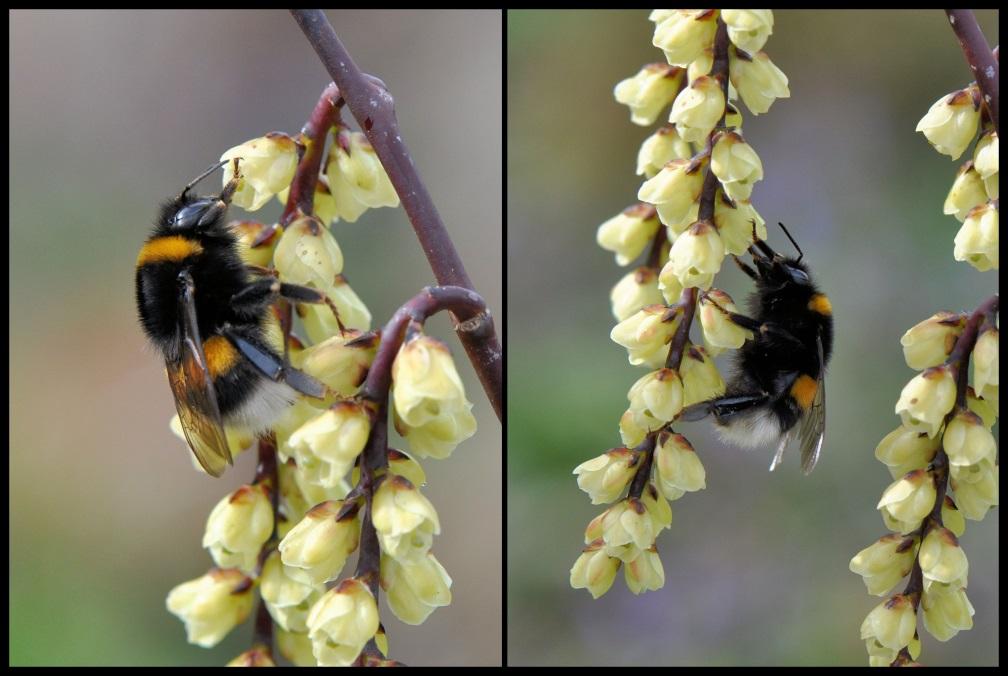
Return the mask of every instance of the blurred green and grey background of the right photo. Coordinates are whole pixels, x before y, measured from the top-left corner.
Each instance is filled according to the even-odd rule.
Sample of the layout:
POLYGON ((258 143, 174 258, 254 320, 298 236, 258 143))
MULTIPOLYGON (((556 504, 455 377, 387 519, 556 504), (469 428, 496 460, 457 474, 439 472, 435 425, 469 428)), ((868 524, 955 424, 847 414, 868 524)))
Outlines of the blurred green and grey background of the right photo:
MULTIPOLYGON (((866 665, 859 627, 880 599, 848 562, 886 532, 875 505, 891 480, 873 452, 913 375, 899 337, 998 286, 953 260, 959 224, 941 204, 959 162, 913 131, 970 72, 938 10, 775 12, 764 49, 791 98, 744 111, 743 126, 763 161, 753 205, 770 244, 789 251, 782 221, 833 300, 824 455, 810 477, 794 456, 770 475, 772 449, 687 425, 708 488, 672 505, 657 542, 664 588, 634 596, 621 571, 593 601, 568 575, 603 508, 571 471, 619 444, 644 373, 609 340, 609 290, 626 270, 595 233, 641 182, 653 128, 631 124, 612 91, 662 60, 647 14, 508 13, 508 662, 866 665)), ((996 14, 979 16, 997 44, 996 14)), ((717 283, 737 300, 751 287, 732 265, 717 283)), ((998 663, 998 511, 962 543, 975 628, 943 644, 922 633, 925 664, 998 663)))

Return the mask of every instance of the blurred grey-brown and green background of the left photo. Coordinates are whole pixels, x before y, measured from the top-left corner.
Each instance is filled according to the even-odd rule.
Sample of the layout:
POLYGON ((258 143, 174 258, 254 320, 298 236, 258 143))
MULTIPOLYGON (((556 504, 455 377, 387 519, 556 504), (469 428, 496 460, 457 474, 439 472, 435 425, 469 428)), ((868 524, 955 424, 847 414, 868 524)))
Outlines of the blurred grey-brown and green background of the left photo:
MULTIPOLYGON (((501 13, 329 16, 357 63, 389 86, 503 331, 501 13)), ((251 480, 254 458, 218 481, 193 470, 168 431, 163 366, 136 321, 133 264, 160 200, 233 145, 296 133, 329 76, 286 12, 9 19, 10 664, 223 664, 251 627, 214 650, 190 646, 164 597, 211 565, 206 517, 251 480)), ((279 212, 274 201, 256 218, 279 212)), ((375 324, 433 282, 401 209, 333 232, 375 324)), ((452 346, 480 426, 452 458, 425 463, 454 601, 419 627, 384 604, 382 619, 407 664, 500 664, 501 426, 448 319, 429 329, 452 346)))

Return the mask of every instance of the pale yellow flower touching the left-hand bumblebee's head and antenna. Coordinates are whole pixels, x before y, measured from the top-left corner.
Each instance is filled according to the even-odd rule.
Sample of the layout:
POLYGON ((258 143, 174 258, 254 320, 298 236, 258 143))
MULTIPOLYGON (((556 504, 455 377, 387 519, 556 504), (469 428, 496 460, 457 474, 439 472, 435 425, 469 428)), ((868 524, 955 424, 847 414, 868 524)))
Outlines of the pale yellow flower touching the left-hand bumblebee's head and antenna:
POLYGON ((221 155, 224 165, 224 185, 235 176, 235 163, 241 179, 231 201, 248 212, 254 212, 274 194, 290 185, 297 168, 297 144, 286 134, 270 132, 265 136, 226 150, 221 155))

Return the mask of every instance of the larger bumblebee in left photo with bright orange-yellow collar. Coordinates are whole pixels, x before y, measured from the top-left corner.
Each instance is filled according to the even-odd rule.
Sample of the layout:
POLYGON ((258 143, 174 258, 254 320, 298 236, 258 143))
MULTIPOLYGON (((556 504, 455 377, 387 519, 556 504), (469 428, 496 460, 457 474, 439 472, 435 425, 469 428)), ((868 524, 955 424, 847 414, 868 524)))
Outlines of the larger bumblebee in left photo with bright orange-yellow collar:
POLYGON ((171 393, 193 453, 208 474, 232 463, 224 425, 258 433, 299 394, 326 387, 291 367, 270 345, 271 306, 279 299, 328 302, 309 287, 281 283, 246 265, 225 222, 241 174, 220 194, 196 196, 212 166, 161 206, 136 261, 136 304, 147 337, 163 355, 171 393))

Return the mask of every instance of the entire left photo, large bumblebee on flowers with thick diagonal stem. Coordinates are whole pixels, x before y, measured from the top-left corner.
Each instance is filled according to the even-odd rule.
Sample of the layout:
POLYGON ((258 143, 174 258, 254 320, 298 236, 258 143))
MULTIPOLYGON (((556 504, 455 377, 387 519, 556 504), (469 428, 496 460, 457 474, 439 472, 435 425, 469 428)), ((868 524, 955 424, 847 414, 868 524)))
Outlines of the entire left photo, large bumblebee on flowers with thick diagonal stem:
POLYGON ((502 665, 502 12, 9 25, 10 665, 502 665))

